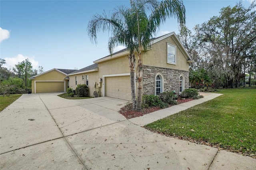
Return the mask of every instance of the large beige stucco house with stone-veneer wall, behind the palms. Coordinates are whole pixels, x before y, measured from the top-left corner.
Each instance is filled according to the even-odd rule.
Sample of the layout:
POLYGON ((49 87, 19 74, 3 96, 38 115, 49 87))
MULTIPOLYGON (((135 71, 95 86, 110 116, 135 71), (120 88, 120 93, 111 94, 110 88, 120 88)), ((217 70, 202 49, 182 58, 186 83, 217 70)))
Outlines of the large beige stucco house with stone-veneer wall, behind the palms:
MULTIPOLYGON (((76 89, 78 84, 86 84, 90 96, 97 91, 100 96, 131 100, 128 55, 129 51, 122 49, 69 73, 69 87, 76 89)), ((181 92, 189 87, 189 63, 193 60, 174 32, 152 39, 151 49, 142 55, 143 94, 181 92)))

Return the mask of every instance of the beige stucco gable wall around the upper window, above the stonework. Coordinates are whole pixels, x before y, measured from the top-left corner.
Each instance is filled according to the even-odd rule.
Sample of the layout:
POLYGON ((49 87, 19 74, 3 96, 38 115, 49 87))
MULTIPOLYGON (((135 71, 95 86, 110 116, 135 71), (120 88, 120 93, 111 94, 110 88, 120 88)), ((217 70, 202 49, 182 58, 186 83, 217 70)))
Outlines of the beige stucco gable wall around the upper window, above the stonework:
POLYGON ((189 64, 187 59, 172 36, 153 44, 151 47, 150 51, 143 53, 144 65, 188 71, 189 64), (167 63, 167 43, 176 46, 176 65, 167 63))

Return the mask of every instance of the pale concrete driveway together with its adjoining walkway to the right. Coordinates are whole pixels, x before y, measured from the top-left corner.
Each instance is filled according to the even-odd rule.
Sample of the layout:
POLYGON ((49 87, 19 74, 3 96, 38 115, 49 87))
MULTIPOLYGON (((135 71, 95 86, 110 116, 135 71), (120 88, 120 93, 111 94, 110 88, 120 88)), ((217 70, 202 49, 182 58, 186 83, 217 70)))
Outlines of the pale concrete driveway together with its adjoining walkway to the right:
POLYGON ((26 94, 0 113, 0 169, 256 169, 256 160, 142 128, 217 94, 134 119, 127 101, 26 94), (138 126, 139 125, 139 126, 138 126))

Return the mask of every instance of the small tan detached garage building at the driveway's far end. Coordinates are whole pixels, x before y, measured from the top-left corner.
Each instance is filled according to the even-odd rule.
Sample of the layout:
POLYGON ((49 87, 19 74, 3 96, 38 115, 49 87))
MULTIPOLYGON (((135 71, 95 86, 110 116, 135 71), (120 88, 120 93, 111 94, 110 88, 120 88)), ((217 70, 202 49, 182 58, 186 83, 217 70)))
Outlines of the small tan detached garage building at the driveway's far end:
POLYGON ((68 88, 68 74, 73 69, 51 69, 44 73, 30 77, 32 93, 66 92, 68 88))

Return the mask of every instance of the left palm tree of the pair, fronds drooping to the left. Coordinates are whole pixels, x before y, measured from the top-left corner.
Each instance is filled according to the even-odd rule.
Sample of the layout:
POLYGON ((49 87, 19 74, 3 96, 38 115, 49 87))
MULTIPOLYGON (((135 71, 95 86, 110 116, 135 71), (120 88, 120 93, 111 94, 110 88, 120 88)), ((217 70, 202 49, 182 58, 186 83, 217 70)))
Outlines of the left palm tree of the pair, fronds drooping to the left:
POLYGON ((112 55, 114 47, 124 45, 129 50, 128 55, 130 66, 130 83, 133 109, 136 108, 136 93, 135 93, 135 55, 134 55, 134 21, 131 10, 124 6, 119 6, 114 9, 111 18, 106 14, 103 16, 96 14, 88 23, 88 35, 90 40, 97 43, 96 32, 99 30, 112 32, 112 37, 108 40, 108 49, 112 55))

